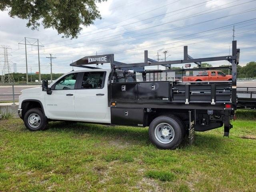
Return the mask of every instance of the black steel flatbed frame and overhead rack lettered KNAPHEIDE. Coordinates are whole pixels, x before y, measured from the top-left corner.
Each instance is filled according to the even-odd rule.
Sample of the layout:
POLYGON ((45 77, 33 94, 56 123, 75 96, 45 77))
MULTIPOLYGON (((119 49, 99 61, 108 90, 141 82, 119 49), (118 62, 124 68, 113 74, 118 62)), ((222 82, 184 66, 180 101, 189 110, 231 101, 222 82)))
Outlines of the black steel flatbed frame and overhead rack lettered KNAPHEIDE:
MULTIPOLYGON (((196 118, 196 110, 208 110, 208 114, 211 113, 212 110, 220 111, 221 114, 223 114, 222 122, 224 123, 224 136, 228 136, 230 128, 232 128, 232 125, 230 124, 230 117, 234 116, 234 110, 237 108, 237 96, 236 96, 236 77, 237 77, 237 64, 239 64, 239 56, 240 56, 240 49, 237 48, 237 42, 232 41, 232 55, 227 55, 227 56, 217 56, 217 57, 207 57, 207 58, 192 58, 190 55, 188 55, 188 47, 184 46, 184 58, 181 60, 171 60, 171 61, 162 61, 158 62, 156 60, 152 60, 148 58, 148 51, 144 51, 144 62, 140 63, 131 63, 131 64, 126 64, 122 62, 117 62, 114 60, 114 54, 106 54, 106 55, 97 55, 97 56, 86 56, 84 58, 81 58, 80 60, 73 62, 70 64, 70 66, 77 66, 77 67, 82 67, 82 68, 89 68, 89 69, 98 69, 99 64, 104 64, 104 63, 110 63, 111 66, 111 75, 108 78, 108 90, 109 90, 109 106, 111 109, 113 108, 137 108, 139 111, 142 109, 151 109, 151 108, 161 108, 161 109, 174 109, 174 110, 189 110, 189 130, 190 132, 193 132, 192 127, 196 124, 195 118, 196 118), (232 64, 232 66, 227 66, 227 67, 207 67, 207 68, 201 68, 201 63, 202 62, 209 62, 209 61, 220 61, 220 60, 227 60, 232 64), (171 65, 173 64, 186 64, 186 63, 195 63, 198 65, 198 68, 200 70, 221 70, 221 69, 230 69, 232 70, 232 82, 221 82, 220 84, 216 83, 211 83, 208 85, 190 85, 190 84, 185 84, 182 85, 182 89, 184 92, 185 96, 185 101, 180 101, 178 102, 177 100, 173 99, 167 99, 161 102, 156 102, 156 101, 149 101, 149 100, 133 100, 133 101, 125 101, 125 100, 115 100, 113 99, 113 92, 112 92, 112 86, 114 84, 119 84, 120 88, 122 83, 112 83, 112 79, 114 78, 114 73, 118 70, 122 70, 125 73, 128 74, 128 70, 133 70, 134 74, 136 72, 141 72, 143 79, 146 79, 146 74, 147 73, 157 73, 157 72, 185 72, 185 71, 193 71, 193 70, 198 70, 198 68, 193 68, 193 69, 177 69, 173 70, 171 69, 171 65), (90 64, 96 64, 97 67, 92 67, 88 66, 90 64), (144 67, 145 66, 165 66, 167 69, 166 70, 150 70, 150 71, 145 71, 144 67), (225 85, 224 85, 225 84, 225 85), (227 84, 227 85, 226 85, 227 84), (195 86, 205 86, 206 88, 210 89, 210 101, 196 101, 192 100, 190 98, 190 92, 191 89, 196 89, 195 86), (210 87, 209 87, 210 86, 210 87), (231 100, 228 101, 223 101, 223 100, 218 100, 218 94, 216 94, 216 90, 218 89, 218 86, 228 86, 228 89, 231 90, 230 96, 231 100), (113 106, 112 103, 115 103, 113 106), (225 104, 230 103, 232 104, 232 108, 225 108, 225 104)), ((126 85, 132 84, 131 82, 126 82, 126 85)), ((135 82, 137 83, 135 86, 140 86, 140 82, 135 82)), ((156 82, 157 83, 157 82, 156 82)), ((173 92, 175 90, 175 86, 171 89, 169 89, 173 92)), ((224 87, 225 90, 225 87, 224 87)), ((136 93, 138 95, 138 93, 136 93)), ((169 94, 170 95, 170 94, 169 94)), ((112 110, 111 110, 112 111, 112 110)), ((128 111, 125 111, 125 113, 128 113, 128 111)), ((117 113, 119 115, 119 112, 117 113)), ((144 118, 144 116, 143 116, 144 118)), ((213 125, 212 127, 214 128, 217 127, 217 125, 213 125)), ((218 125, 218 127, 220 127, 218 125)), ((208 129, 209 130, 209 129, 208 129)), ((193 136, 190 136, 193 137, 193 136)))

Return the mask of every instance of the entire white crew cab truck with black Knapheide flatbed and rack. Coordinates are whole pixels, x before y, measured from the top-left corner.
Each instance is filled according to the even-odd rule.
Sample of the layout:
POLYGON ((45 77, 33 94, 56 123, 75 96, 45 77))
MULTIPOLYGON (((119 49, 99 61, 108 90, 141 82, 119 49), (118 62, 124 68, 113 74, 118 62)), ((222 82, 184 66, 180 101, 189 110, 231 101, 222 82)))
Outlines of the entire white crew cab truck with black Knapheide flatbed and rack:
MULTIPOLYGON (((22 90, 18 114, 32 131, 45 130, 49 121, 74 121, 146 127, 151 142, 158 148, 174 149, 186 136, 190 144, 195 131, 207 131, 224 125, 224 136, 232 128, 236 110, 236 65, 240 50, 232 42, 231 56, 194 59, 184 47, 184 59, 157 62, 144 53, 144 62, 125 64, 114 61, 114 54, 86 56, 70 64, 86 68, 64 74, 48 86, 22 90), (227 60, 232 66, 232 81, 174 82, 150 80, 147 73, 184 72, 172 70, 172 64, 227 60), (111 69, 90 64, 110 63, 111 69), (145 71, 145 66, 165 66, 166 70, 145 71)), ((201 68, 200 70, 220 70, 201 68)), ((189 69, 189 70, 198 70, 189 69)))

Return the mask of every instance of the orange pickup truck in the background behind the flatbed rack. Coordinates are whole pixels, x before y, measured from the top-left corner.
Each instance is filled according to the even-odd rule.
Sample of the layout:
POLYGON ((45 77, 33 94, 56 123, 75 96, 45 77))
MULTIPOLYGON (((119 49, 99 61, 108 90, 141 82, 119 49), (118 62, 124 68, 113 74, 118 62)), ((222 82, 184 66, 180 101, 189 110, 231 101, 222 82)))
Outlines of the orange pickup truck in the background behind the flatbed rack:
POLYGON ((231 81, 232 75, 221 71, 200 71, 197 76, 183 76, 182 81, 231 81))

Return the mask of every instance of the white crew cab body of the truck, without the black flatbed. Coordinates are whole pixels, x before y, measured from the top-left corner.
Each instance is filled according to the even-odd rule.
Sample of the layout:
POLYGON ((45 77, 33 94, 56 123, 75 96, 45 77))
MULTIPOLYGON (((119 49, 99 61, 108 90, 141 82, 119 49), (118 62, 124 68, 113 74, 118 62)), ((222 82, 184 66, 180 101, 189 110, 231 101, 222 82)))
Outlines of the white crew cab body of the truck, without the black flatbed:
POLYGON ((106 80, 109 74, 110 70, 102 69, 69 72, 50 84, 48 91, 41 87, 22 90, 19 108, 24 110, 27 103, 34 101, 42 105, 45 116, 51 120, 110 123, 106 80))

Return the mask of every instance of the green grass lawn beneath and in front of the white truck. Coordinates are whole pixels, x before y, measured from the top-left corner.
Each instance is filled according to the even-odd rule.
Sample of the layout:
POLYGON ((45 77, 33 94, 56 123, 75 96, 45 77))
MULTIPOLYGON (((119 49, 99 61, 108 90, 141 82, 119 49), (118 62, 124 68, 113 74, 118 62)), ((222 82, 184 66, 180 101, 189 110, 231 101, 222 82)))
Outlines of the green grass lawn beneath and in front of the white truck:
POLYGON ((255 191, 256 121, 196 132, 159 150, 147 128, 50 122, 30 132, 0 120, 0 191, 255 191), (250 139, 246 139, 250 138, 250 139))

